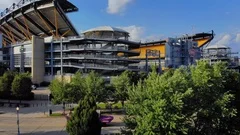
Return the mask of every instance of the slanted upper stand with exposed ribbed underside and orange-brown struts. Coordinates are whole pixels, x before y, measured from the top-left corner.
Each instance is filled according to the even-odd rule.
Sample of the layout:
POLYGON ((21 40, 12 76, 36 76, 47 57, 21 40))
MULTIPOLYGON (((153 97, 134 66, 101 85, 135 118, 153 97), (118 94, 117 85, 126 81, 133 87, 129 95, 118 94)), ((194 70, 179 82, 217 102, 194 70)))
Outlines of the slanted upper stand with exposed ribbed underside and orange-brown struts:
POLYGON ((31 40, 32 36, 78 36, 66 13, 78 8, 67 0, 21 0, 0 14, 3 44, 31 40))

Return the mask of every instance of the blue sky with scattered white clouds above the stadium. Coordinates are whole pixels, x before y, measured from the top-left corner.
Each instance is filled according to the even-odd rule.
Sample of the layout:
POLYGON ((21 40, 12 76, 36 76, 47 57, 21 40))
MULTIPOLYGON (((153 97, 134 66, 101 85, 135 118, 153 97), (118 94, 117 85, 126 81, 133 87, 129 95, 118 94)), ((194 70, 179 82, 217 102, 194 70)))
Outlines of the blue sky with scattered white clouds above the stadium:
MULTIPOLYGON (((14 1, 0 0, 0 9, 14 1)), ((183 34, 210 32, 211 44, 240 52, 240 0, 69 0, 79 8, 68 17, 79 32, 113 26, 131 40, 153 41, 183 34)))

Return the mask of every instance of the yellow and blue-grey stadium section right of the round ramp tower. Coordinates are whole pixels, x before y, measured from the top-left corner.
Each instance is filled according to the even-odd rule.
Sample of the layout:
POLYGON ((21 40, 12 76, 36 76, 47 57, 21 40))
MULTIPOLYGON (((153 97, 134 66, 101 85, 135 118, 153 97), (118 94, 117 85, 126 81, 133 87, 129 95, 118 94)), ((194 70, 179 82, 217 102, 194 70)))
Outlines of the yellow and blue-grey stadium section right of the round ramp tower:
POLYGON ((140 51, 140 55, 132 57, 132 59, 140 60, 140 66, 143 70, 146 70, 147 65, 159 65, 159 62, 163 70, 177 68, 181 65, 191 65, 202 58, 204 46, 209 44, 213 38, 214 32, 212 31, 142 43, 140 48, 136 49, 140 51), (149 50, 160 52, 160 57, 152 56, 151 53, 149 55, 149 50))

